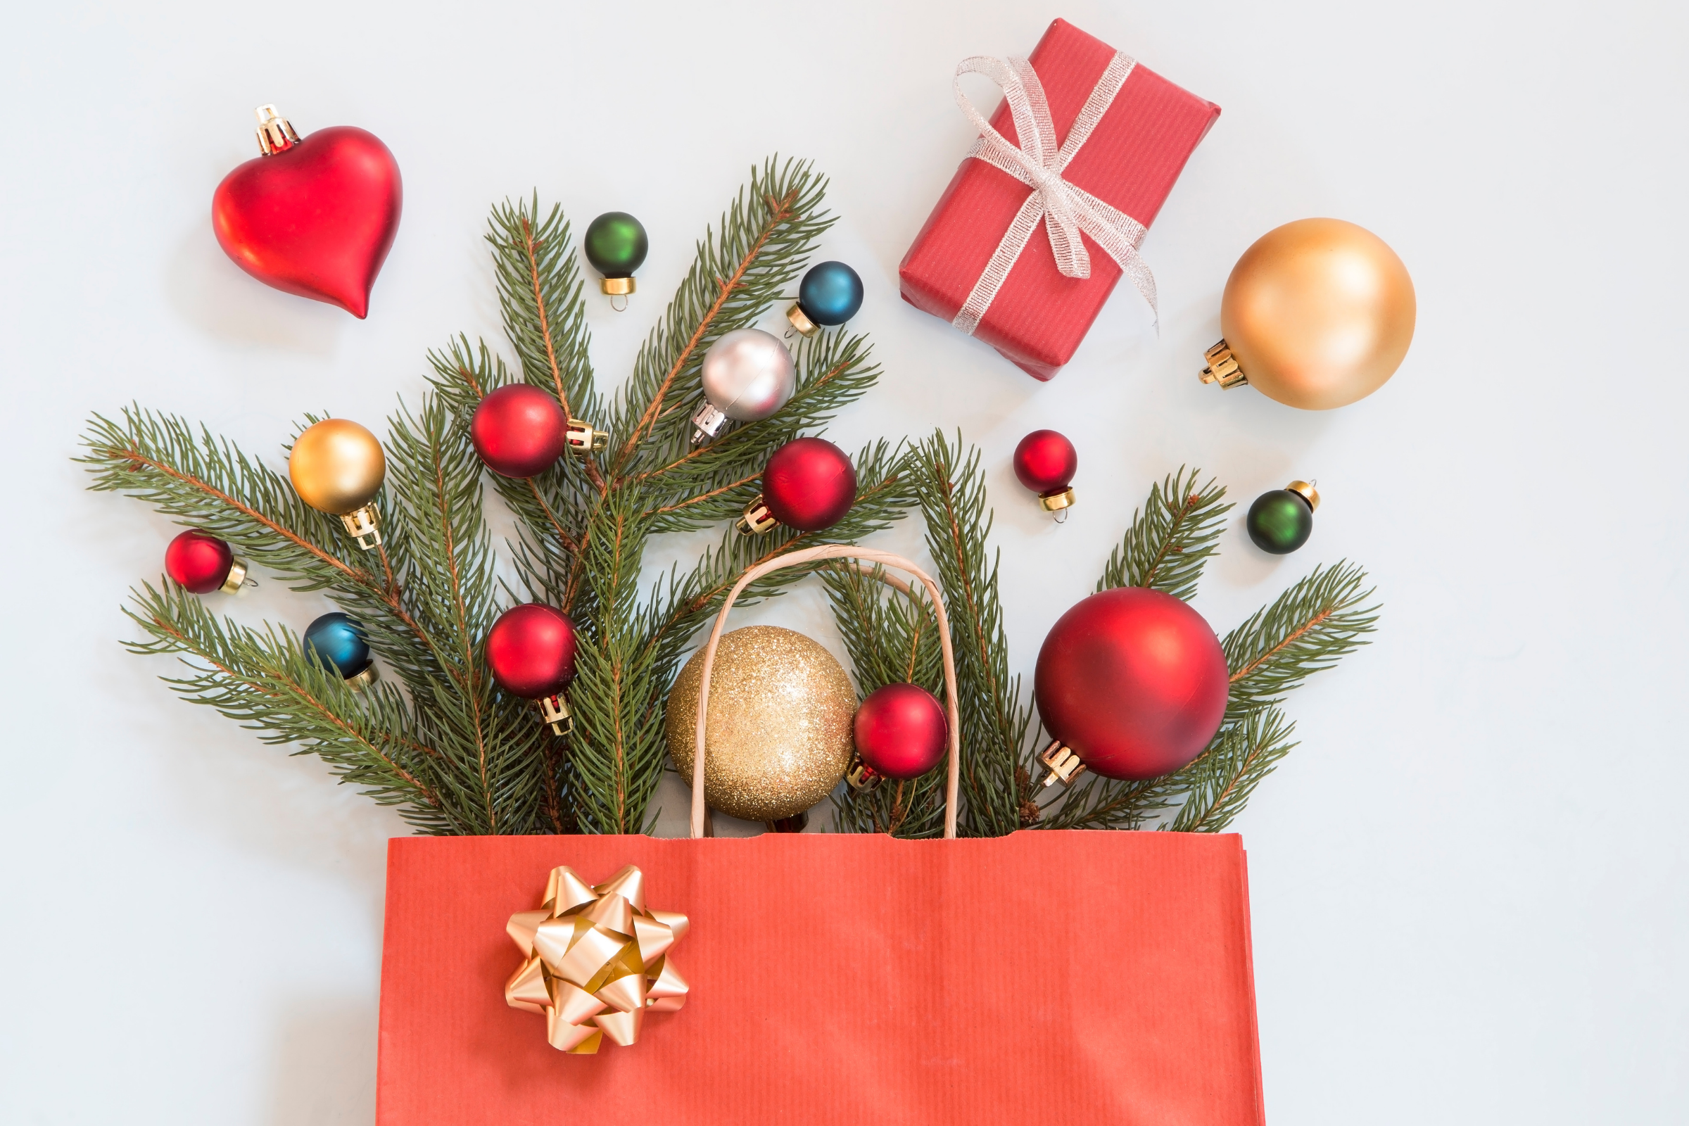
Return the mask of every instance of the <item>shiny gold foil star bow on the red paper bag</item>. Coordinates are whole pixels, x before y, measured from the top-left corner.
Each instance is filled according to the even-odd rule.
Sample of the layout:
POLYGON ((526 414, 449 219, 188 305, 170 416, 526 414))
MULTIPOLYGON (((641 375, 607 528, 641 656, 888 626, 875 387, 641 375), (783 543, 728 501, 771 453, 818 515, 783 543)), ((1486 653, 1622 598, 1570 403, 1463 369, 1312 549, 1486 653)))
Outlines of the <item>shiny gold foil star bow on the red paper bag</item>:
POLYGON ((589 1055, 605 1037, 628 1047, 647 1011, 686 1004, 669 947, 687 925, 679 912, 645 908, 645 874, 633 864, 596 888, 573 868, 556 868, 544 903, 505 927, 524 957, 505 1001, 544 1013, 546 1040, 562 1052, 589 1055))

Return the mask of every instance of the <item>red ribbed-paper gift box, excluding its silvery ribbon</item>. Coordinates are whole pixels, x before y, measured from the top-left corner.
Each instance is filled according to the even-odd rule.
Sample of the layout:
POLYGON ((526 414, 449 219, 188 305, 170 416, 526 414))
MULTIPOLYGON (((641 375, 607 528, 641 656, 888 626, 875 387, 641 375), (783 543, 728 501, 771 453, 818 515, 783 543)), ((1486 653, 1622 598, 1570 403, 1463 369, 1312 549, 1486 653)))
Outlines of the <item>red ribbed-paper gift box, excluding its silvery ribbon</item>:
MULTIPOLYGON (((1067 138, 1115 57, 1113 47, 1066 20, 1044 32, 1030 64, 1057 142, 1067 138)), ((1142 228, 1155 219, 1191 152, 1219 116, 1219 106, 1142 64, 1130 68, 1061 177, 1125 213, 1142 238, 1142 228)), ((1010 145, 1024 145, 1007 100, 990 125, 1010 145)), ((1000 167, 964 159, 904 255, 899 267, 904 300, 954 322, 1032 192, 1000 167)), ((975 336, 1039 380, 1054 376, 1073 358, 1123 273, 1086 231, 1081 238, 1089 252, 1089 277, 1066 277, 1057 268, 1047 226, 1047 219, 1037 225, 973 324, 975 336)), ((1138 267, 1133 273, 1143 279, 1145 295, 1152 295, 1147 270, 1138 267)))

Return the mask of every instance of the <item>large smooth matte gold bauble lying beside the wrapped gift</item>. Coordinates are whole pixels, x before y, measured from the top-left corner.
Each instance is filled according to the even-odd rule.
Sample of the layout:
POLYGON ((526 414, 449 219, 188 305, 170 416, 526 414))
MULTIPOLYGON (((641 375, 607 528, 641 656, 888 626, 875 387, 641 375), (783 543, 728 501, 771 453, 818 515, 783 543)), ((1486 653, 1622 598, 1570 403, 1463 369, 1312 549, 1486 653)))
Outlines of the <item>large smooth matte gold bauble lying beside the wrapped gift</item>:
POLYGON ((1414 339, 1414 280, 1371 231, 1297 219, 1243 252, 1219 300, 1204 383, 1248 383, 1302 410, 1371 395, 1414 339))

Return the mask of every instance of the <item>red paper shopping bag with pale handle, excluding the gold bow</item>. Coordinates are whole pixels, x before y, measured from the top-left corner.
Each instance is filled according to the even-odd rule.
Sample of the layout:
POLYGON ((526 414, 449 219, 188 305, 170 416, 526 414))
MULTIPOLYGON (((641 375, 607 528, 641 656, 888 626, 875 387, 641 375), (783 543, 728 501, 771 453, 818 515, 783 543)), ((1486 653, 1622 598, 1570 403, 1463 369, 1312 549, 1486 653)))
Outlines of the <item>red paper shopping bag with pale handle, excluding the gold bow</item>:
MULTIPOLYGON (((747 572, 723 618, 763 571, 843 555, 905 566, 794 552, 747 572)), ((956 761, 953 741, 953 782, 956 761)), ((1243 847, 1040 831, 395 839, 377 1121, 1260 1126, 1243 847), (689 920, 664 954, 686 1004, 644 1013, 630 1047, 559 1052, 544 1016, 507 1004, 524 964, 507 923, 562 864, 586 881, 635 864, 645 905, 689 920)))

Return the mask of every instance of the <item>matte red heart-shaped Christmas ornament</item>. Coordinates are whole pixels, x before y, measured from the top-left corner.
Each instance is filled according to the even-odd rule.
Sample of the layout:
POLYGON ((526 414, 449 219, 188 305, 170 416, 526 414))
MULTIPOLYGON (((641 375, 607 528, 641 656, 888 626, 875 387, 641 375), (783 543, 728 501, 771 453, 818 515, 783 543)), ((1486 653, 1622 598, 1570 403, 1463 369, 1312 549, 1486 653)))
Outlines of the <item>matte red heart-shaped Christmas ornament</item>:
POLYGON ((363 317, 402 203, 387 145, 334 125, 225 176, 211 226, 223 252, 265 285, 363 317))

